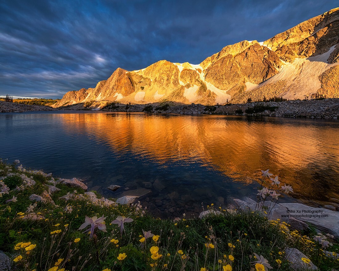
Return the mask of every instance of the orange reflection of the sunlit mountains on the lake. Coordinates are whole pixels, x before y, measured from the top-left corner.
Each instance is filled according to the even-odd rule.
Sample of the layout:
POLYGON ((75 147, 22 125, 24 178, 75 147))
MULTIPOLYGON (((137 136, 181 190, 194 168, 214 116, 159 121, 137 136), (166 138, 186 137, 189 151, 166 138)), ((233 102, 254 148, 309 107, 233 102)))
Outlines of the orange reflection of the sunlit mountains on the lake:
POLYGON ((86 131, 114 152, 130 152, 164 167, 171 162, 200 163, 243 183, 252 183, 260 169, 270 168, 299 197, 325 193, 339 198, 335 125, 323 127, 315 120, 143 113, 60 117, 69 131, 86 131), (328 186, 330 191, 325 190, 328 186))

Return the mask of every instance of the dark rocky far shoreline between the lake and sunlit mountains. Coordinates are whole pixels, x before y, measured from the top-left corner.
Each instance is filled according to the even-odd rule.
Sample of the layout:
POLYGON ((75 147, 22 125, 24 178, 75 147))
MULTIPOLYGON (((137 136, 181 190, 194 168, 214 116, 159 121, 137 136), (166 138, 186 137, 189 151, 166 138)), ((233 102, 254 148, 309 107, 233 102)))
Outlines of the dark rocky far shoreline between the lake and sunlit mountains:
MULTIPOLYGON (((103 106, 103 105, 101 105, 103 106)), ((202 104, 111 104, 102 109, 85 107, 83 103, 52 108, 0 101, 0 112, 52 111, 52 110, 99 110, 107 112, 144 112, 163 114, 215 114, 270 117, 339 118, 339 99, 291 100, 284 102, 252 102, 206 106, 202 104)))

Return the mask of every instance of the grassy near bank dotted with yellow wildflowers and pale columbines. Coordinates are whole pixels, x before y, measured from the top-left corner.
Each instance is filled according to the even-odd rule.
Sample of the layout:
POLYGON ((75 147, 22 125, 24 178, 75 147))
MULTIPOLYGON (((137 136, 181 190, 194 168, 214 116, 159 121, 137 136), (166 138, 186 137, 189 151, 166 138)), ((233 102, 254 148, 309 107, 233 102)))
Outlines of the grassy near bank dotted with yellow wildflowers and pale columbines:
POLYGON ((209 209, 221 213, 160 220, 139 204, 94 203, 84 190, 55 184, 56 178, 15 163, 1 161, 0 176, 0 249, 16 270, 230 271, 272 266, 288 271, 293 269, 284 257, 287 246, 298 248, 320 270, 339 267, 337 260, 323 255, 312 230, 290 231, 287 224, 269 221, 261 212, 211 204, 209 209), (45 191, 56 189, 47 185, 60 190, 48 194, 45 191), (42 200, 31 201, 32 194, 42 195, 42 200), (68 200, 61 198, 65 195, 68 200), (89 225, 83 225, 86 216, 98 220, 87 219, 89 225), (131 219, 122 224, 122 216, 131 219))

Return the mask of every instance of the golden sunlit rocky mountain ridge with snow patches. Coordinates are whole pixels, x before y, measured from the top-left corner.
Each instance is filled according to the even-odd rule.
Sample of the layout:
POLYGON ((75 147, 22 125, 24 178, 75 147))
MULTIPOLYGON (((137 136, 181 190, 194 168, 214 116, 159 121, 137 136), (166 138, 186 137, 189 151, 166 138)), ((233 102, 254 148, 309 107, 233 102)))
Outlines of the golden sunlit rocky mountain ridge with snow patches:
POLYGON ((95 88, 67 92, 53 105, 81 102, 182 104, 244 102, 313 93, 338 97, 339 8, 302 22, 264 42, 224 47, 198 65, 158 61, 141 70, 116 69, 95 88))

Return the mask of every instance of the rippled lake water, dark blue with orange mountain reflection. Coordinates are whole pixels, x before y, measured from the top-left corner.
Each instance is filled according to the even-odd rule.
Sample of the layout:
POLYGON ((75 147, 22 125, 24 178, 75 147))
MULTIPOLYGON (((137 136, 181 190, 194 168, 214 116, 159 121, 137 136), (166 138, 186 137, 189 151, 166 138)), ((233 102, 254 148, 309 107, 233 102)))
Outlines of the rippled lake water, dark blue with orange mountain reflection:
POLYGON ((201 203, 225 205, 227 196, 255 198, 260 169, 267 168, 293 186, 295 199, 285 201, 339 199, 338 139, 336 120, 0 113, 0 158, 84 179, 106 197, 152 183, 142 203, 162 216, 198 213, 201 203), (111 184, 123 188, 112 192, 111 184))

